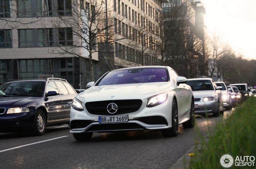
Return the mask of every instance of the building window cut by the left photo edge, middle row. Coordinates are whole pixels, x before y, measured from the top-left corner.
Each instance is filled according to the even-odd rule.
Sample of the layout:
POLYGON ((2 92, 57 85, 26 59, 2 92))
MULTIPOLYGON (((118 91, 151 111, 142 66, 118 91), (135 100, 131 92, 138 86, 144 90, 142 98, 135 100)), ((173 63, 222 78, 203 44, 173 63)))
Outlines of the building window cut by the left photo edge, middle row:
POLYGON ((12 48, 12 30, 0 30, 0 48, 12 48))

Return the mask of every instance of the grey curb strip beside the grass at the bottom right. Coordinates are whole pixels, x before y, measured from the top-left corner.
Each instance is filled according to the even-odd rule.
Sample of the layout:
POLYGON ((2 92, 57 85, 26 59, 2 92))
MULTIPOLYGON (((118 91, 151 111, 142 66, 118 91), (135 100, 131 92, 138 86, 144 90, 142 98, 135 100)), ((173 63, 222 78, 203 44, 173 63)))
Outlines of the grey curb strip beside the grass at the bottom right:
POLYGON ((195 145, 192 146, 170 169, 184 169, 188 168, 190 156, 189 153, 194 153, 195 145))

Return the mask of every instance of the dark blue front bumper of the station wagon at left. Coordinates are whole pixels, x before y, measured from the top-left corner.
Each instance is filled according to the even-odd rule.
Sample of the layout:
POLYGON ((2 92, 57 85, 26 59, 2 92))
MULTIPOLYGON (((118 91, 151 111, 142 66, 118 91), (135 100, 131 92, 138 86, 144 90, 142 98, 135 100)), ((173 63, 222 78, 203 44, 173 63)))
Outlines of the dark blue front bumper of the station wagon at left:
POLYGON ((13 113, 0 116, 0 132, 18 132, 32 130, 35 113, 13 113))

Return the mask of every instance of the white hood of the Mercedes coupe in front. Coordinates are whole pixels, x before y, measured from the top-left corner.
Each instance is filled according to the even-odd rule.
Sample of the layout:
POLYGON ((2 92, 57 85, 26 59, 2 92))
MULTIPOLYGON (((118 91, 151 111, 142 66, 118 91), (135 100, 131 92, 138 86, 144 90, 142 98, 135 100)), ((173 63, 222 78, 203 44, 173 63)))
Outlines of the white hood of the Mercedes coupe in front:
POLYGON ((91 98, 103 96, 145 95, 164 90, 170 86, 170 82, 93 86, 84 91, 83 93, 79 93, 79 96, 83 98, 91 98))

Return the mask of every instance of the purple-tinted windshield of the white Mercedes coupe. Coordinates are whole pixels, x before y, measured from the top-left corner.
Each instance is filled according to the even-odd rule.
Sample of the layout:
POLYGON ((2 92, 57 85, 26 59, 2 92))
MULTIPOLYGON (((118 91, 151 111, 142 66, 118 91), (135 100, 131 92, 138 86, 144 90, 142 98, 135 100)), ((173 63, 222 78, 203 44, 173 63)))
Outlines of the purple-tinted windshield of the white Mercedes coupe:
POLYGON ((168 77, 165 68, 133 68, 109 72, 100 80, 98 86, 167 81, 168 77))

